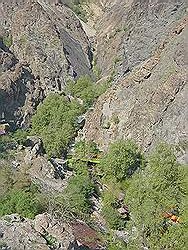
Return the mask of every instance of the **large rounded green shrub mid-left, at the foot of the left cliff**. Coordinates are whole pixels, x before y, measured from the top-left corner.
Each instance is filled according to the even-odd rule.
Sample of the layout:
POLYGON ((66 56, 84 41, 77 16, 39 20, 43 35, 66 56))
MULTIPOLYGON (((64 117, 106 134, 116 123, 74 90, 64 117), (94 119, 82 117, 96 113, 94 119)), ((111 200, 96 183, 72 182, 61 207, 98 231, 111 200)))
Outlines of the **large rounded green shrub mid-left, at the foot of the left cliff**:
POLYGON ((77 117, 83 109, 76 101, 58 94, 49 95, 32 118, 32 133, 42 137, 49 157, 65 153, 78 129, 77 117))

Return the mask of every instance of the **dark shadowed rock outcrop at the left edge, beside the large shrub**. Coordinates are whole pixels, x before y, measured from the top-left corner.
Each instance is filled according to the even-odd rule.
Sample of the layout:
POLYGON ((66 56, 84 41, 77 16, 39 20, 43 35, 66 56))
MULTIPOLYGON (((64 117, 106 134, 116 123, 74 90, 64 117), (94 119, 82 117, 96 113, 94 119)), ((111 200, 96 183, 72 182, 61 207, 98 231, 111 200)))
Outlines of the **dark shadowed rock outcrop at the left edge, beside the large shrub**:
MULTIPOLYGON (((2 45, 2 43, 1 43, 2 45)), ((44 98, 27 63, 20 63, 6 47, 0 48, 0 114, 19 125, 27 123, 36 106, 44 98)))

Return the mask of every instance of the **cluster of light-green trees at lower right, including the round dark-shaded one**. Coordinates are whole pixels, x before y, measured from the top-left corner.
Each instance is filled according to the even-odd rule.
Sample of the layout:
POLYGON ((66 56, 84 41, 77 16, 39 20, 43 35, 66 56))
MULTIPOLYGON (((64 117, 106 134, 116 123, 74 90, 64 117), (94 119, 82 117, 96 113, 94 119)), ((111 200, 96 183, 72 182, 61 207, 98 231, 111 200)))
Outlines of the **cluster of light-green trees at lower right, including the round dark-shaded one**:
MULTIPOLYGON (((122 249, 186 249, 187 200, 184 167, 177 163, 172 148, 159 145, 149 156, 143 155, 133 142, 119 141, 110 146, 100 164, 103 214, 111 229, 132 232, 122 249), (117 212, 118 193, 125 194, 129 220, 117 212), (164 218, 172 212, 180 223, 164 218), (134 233, 133 233, 134 229, 134 233)), ((121 248, 120 248, 121 249, 121 248)))

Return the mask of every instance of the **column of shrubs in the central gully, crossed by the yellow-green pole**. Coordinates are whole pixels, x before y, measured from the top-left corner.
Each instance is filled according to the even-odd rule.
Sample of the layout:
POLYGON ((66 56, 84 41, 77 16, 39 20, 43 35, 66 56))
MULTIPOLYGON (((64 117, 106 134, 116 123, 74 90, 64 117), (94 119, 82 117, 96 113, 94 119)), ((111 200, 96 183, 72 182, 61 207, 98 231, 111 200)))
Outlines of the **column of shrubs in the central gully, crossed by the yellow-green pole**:
POLYGON ((98 194, 98 189, 90 176, 90 167, 85 160, 95 158, 97 153, 98 149, 93 142, 81 141, 75 145, 75 151, 68 164, 69 169, 74 171, 74 176, 54 202, 55 206, 60 205, 60 211, 68 213, 71 218, 90 220, 93 211, 91 197, 98 194))

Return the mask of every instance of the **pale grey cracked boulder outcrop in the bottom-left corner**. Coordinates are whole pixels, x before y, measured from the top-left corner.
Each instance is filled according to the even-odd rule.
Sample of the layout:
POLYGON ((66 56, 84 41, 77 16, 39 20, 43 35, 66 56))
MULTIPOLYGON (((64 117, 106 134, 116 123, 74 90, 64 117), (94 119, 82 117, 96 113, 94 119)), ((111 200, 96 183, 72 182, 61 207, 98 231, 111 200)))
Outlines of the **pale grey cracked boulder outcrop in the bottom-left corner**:
POLYGON ((71 228, 47 213, 37 215, 34 220, 17 214, 4 216, 0 220, 1 242, 6 242, 4 249, 50 250, 52 248, 48 244, 48 237, 55 239, 53 249, 76 249, 71 228))

